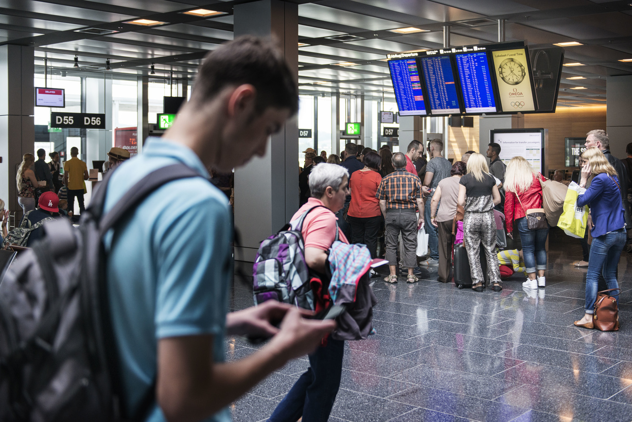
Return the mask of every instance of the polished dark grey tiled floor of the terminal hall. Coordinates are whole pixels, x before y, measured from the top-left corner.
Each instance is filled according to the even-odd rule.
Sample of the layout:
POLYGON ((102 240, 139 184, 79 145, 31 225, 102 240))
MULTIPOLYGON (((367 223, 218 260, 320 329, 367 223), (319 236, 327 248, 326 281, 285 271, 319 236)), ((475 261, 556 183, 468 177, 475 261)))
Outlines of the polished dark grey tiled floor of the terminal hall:
MULTIPOLYGON (((547 286, 458 290, 436 280, 375 279, 374 327, 347 342, 330 421, 632 421, 632 254, 619 262, 619 332, 578 329, 585 268, 580 244, 552 232, 547 286)), ((236 283, 231 307, 252 305, 236 283)), ((255 351, 227 339, 228 359, 255 351)), ((291 361, 233 404, 233 420, 265 420, 307 368, 291 361)))

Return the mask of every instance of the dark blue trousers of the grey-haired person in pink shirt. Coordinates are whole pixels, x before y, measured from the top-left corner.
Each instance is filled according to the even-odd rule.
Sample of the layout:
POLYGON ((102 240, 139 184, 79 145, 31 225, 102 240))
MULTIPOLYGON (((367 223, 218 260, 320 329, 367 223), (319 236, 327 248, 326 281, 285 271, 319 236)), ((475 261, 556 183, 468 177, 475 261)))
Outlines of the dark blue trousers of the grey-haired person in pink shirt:
POLYGON ((336 401, 343 373, 344 341, 327 339, 327 346, 309 355, 310 367, 278 404, 268 422, 326 422, 336 401))

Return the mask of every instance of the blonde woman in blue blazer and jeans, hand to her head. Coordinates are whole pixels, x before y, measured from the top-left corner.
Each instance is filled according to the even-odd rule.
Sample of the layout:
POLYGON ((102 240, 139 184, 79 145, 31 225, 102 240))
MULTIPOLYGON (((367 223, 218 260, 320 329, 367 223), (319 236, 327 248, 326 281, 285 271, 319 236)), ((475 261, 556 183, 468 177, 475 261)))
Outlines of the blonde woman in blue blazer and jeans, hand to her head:
MULTIPOLYGON (((618 289, 617 265, 626 244, 625 218, 621 202, 621 184, 617 171, 608 162, 599 148, 588 148, 583 152, 584 165, 581 167, 580 188, 577 206, 590 207, 593 236, 586 273, 586 303, 584 317, 574 324, 586 329, 593 328, 593 306, 597 299, 599 274, 604 275, 608 289, 618 289), (586 190, 586 181, 594 175, 586 190)), ((618 294, 612 294, 618 298, 618 294)), ((618 322, 617 322, 618 328, 618 322)))

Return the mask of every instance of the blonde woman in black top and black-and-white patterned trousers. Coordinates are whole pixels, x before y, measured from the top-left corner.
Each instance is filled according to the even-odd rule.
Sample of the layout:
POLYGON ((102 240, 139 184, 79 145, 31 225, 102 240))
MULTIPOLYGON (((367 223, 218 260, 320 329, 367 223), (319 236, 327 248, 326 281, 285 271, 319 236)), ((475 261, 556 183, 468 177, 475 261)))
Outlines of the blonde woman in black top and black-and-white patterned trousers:
POLYGON ((472 289, 483 291, 485 274, 480 265, 480 244, 485 249, 487 268, 490 272, 490 283, 494 284, 494 291, 502 290, 501 273, 498 256, 495 251, 496 222, 494 220, 494 205, 501 202, 494 177, 489 174, 487 161, 482 154, 470 155, 467 164, 468 174, 459 180, 458 204, 465 208, 463 217, 463 243, 468 252, 468 261, 472 277, 472 289))

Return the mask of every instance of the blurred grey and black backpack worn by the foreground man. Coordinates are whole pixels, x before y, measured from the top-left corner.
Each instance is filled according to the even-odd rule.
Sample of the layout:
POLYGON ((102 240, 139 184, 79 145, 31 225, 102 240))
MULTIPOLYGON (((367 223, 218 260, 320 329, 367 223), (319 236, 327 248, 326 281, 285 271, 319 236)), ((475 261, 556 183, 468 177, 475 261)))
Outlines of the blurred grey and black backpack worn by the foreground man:
POLYGON ((183 164, 152 172, 106 215, 106 178, 78 229, 66 219, 44 226, 41 241, 11 264, 0 285, 0 421, 139 419, 154 403, 150 388, 132 415, 116 368, 107 303, 103 235, 156 188, 199 177, 183 164))

